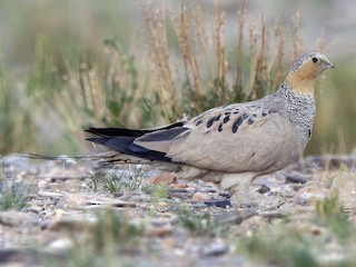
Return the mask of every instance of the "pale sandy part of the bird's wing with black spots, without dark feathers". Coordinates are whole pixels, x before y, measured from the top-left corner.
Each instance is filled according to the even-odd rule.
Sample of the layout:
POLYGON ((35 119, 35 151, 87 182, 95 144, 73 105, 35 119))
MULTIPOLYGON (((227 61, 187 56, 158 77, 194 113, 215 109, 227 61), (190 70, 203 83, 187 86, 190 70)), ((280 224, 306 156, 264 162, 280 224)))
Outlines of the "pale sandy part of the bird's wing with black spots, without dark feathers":
POLYGON ((166 147, 167 157, 199 168, 263 174, 287 166, 299 155, 287 119, 251 103, 208 110, 185 128, 166 147))

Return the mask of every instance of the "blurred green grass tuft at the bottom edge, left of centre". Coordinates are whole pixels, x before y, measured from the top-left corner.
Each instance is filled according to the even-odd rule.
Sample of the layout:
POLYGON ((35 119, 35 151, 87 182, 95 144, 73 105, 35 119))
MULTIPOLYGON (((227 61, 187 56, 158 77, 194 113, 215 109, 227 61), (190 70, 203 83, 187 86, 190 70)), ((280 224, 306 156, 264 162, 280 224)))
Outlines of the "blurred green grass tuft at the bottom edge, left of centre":
POLYGON ((85 236, 76 233, 76 246, 66 251, 66 257, 58 260, 43 256, 41 261, 46 266, 135 266, 132 256, 138 253, 144 226, 130 222, 113 209, 101 210, 95 217, 97 222, 90 231, 85 236))

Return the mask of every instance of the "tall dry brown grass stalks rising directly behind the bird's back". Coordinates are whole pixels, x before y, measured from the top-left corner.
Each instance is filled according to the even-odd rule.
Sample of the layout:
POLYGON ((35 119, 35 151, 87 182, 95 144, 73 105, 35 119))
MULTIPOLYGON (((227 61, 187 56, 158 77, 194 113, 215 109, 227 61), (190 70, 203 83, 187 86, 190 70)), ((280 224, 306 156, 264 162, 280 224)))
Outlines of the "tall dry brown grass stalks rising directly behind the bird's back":
MULTIPOLYGON (((191 116, 218 105, 263 97, 279 86, 286 38, 283 20, 277 21, 275 26, 276 52, 268 56, 268 47, 273 41, 269 38, 271 30, 267 29, 263 17, 258 22, 253 19, 247 24, 244 2, 237 11, 239 18, 237 46, 233 50, 236 57, 230 57, 229 46, 225 39, 225 12, 217 4, 212 17, 205 14, 199 3, 192 3, 187 8, 185 1, 180 2, 179 17, 166 10, 161 7, 155 11, 151 4, 142 2, 142 13, 150 33, 150 49, 155 55, 151 61, 152 69, 156 70, 154 73, 158 73, 155 80, 160 81, 158 85, 165 86, 162 96, 171 99, 168 113, 174 108, 180 116, 185 112, 191 116), (168 18, 166 13, 169 14, 168 18), (166 24, 169 21, 172 21, 178 39, 179 55, 176 58, 169 53, 170 48, 167 42, 166 24), (244 37, 246 28, 247 40, 244 37), (248 56, 244 53, 245 44, 248 47, 248 56), (233 69, 235 60, 236 69, 233 69), (246 69, 249 70, 248 78, 243 75, 246 69), (176 75, 175 79, 175 73, 181 70, 184 70, 184 73, 180 73, 182 78, 179 79, 176 75), (181 89, 181 85, 184 85, 182 90, 177 91, 181 89), (178 99, 177 95, 180 95, 178 99)), ((301 41, 297 16, 293 28, 294 50, 298 51, 301 41)))

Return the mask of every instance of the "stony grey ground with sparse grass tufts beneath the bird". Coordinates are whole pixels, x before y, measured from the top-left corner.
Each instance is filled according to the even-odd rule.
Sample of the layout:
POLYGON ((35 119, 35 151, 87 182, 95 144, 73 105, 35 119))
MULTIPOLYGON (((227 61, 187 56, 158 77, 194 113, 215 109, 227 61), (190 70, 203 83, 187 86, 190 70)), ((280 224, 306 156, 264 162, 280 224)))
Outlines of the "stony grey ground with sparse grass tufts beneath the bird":
POLYGON ((0 158, 3 266, 352 266, 356 158, 257 178, 244 208, 215 185, 140 166, 0 158), (257 197, 256 197, 257 196, 257 197))

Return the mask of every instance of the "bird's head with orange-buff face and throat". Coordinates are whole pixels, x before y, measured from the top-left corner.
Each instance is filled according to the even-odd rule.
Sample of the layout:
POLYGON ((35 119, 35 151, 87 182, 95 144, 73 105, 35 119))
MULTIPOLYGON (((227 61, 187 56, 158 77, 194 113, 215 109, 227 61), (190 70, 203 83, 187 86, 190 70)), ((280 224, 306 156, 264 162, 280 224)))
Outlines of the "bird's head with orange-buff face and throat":
POLYGON ((334 65, 320 53, 312 53, 304 59, 296 70, 291 70, 286 78, 289 89, 303 95, 314 95, 316 78, 334 65))

